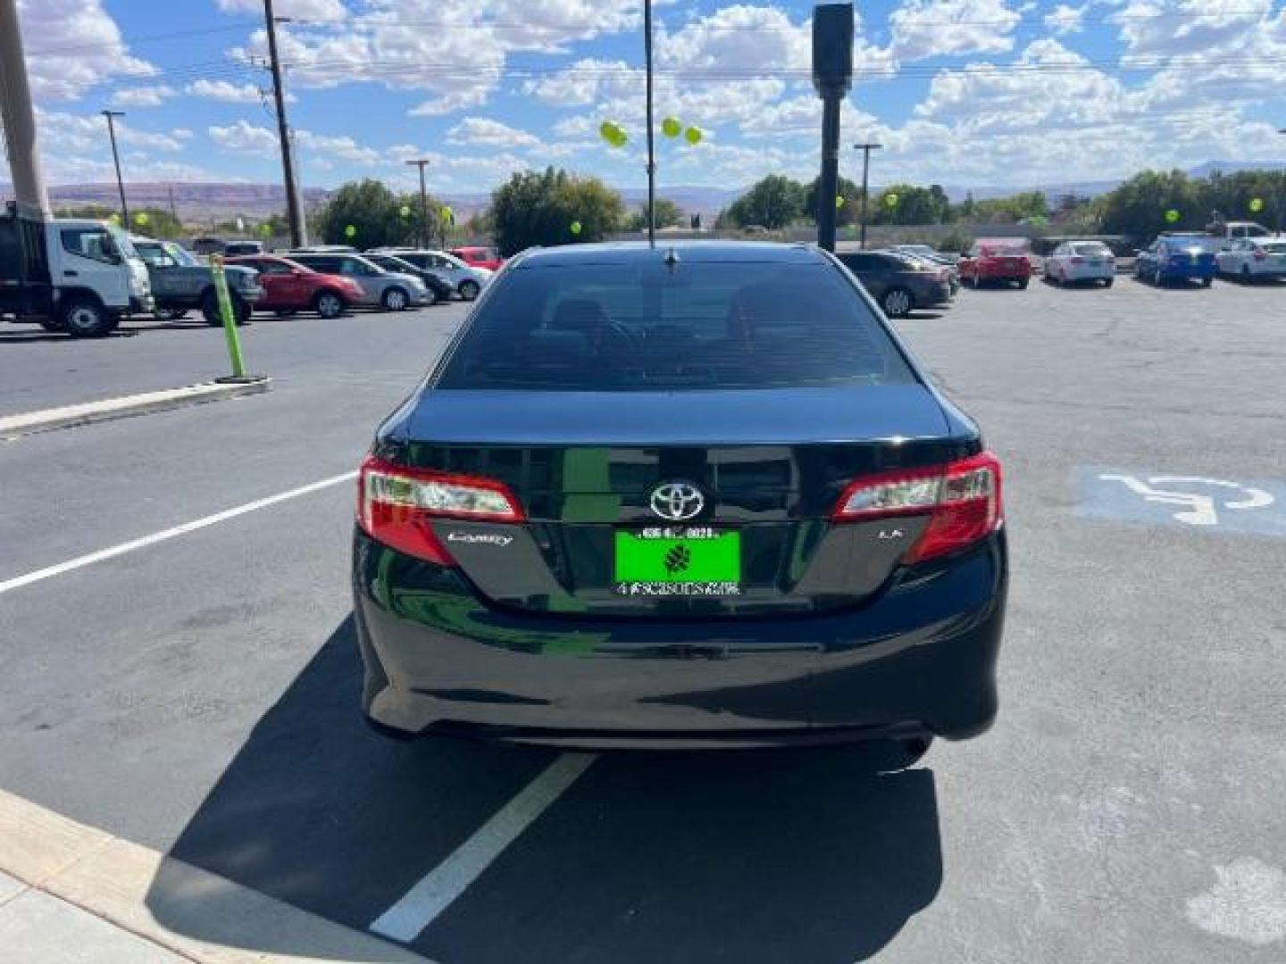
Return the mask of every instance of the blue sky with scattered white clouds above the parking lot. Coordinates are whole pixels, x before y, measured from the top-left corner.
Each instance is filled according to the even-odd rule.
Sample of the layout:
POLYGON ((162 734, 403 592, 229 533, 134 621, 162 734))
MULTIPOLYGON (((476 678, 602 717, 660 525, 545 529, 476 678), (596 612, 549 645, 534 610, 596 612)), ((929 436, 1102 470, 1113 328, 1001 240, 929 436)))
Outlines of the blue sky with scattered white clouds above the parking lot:
MULTIPOLYGON (((661 184, 811 176, 810 3, 657 0, 661 184)), ((486 190, 556 163, 637 185, 640 0, 276 0, 303 181, 486 190), (611 120, 622 149, 599 139, 611 120)), ((845 140, 874 180, 1010 185, 1286 157, 1281 0, 876 0, 858 5, 845 140)), ((261 0, 19 0, 54 183, 275 181, 261 0)), ((853 156, 844 161, 858 171, 853 156)))

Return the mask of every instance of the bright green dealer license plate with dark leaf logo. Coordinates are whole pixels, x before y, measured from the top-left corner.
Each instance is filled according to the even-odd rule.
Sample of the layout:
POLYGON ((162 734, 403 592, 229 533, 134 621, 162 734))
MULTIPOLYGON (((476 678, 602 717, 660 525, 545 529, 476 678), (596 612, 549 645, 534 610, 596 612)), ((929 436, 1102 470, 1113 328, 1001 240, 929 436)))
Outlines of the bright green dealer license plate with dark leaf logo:
POLYGON ((741 532, 709 526, 617 531, 615 563, 620 595, 741 595, 741 532))

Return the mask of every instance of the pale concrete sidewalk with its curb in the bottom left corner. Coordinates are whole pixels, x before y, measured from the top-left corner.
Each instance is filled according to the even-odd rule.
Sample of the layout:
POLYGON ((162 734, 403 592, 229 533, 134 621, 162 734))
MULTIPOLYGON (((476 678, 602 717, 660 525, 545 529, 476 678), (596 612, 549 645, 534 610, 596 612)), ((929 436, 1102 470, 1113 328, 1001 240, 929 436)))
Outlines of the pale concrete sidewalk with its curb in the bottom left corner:
POLYGON ((0 789, 0 964, 431 964, 0 789))

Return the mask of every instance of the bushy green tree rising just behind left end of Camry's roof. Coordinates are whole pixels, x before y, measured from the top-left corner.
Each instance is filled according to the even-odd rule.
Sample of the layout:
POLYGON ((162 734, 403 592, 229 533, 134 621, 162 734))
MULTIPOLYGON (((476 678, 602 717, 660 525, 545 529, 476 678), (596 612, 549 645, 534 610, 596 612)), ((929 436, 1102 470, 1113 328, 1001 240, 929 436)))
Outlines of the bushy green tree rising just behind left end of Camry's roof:
POLYGON ((514 174, 491 193, 495 243, 504 257, 536 244, 602 240, 617 230, 624 213, 621 195, 597 177, 553 167, 514 174))

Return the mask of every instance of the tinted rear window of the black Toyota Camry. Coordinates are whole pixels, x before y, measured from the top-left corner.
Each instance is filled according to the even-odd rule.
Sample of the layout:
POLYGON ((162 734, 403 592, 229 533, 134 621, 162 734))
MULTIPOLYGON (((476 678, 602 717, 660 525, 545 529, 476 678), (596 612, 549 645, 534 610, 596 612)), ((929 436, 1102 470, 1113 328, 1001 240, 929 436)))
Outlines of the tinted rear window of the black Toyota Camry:
POLYGON ((509 272, 436 384, 655 391, 913 382, 872 310, 831 265, 700 262, 509 272))

